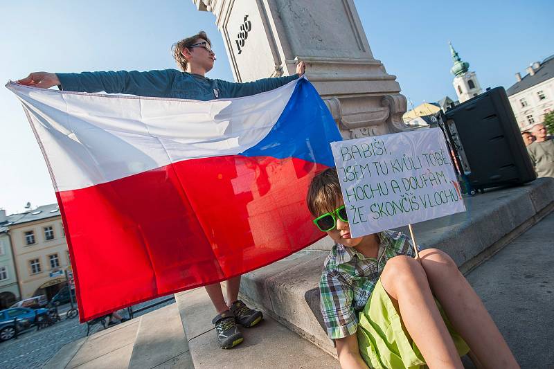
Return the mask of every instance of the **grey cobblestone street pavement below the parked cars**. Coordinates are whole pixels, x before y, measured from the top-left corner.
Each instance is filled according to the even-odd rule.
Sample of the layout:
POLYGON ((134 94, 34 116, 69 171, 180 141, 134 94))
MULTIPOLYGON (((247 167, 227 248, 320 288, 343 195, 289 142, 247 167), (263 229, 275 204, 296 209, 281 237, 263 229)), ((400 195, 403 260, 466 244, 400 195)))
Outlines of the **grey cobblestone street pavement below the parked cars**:
MULTIPOLYGON (((156 300, 163 300, 163 298, 156 300)), ((145 304, 152 303, 152 301, 134 305, 133 308, 138 309, 145 304)), ((134 318, 171 303, 175 303, 175 300, 150 308, 145 312, 141 312, 141 314, 136 314, 134 318)), ((0 368, 42 368, 46 361, 51 359, 64 345, 84 337, 87 334, 87 325, 80 324, 79 318, 66 319, 65 312, 68 309, 69 304, 62 305, 59 309, 62 321, 50 327, 39 331, 37 331, 37 327, 32 327, 30 330, 22 332, 17 339, 0 342, 0 368)), ((91 334, 99 330, 102 330, 102 326, 94 325, 91 327, 91 334)))

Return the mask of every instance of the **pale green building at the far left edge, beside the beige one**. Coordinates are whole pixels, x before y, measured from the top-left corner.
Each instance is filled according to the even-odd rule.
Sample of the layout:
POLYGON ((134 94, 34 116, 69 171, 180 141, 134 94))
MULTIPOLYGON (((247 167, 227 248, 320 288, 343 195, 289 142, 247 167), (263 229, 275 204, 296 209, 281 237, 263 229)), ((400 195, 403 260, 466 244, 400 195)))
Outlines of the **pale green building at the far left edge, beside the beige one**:
POLYGON ((6 216, 6 210, 0 209, 0 310, 21 300, 8 233, 8 224, 18 217, 17 215, 6 216))

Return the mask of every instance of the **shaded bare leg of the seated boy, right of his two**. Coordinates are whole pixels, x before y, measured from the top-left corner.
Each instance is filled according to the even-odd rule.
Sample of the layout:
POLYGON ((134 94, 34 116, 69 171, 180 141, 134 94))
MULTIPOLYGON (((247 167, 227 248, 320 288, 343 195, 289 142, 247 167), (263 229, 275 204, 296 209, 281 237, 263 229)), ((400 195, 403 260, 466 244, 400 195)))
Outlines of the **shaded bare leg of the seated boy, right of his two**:
POLYGON ((485 368, 519 368, 497 325, 452 258, 438 249, 421 251, 420 258, 434 296, 480 363, 485 368))

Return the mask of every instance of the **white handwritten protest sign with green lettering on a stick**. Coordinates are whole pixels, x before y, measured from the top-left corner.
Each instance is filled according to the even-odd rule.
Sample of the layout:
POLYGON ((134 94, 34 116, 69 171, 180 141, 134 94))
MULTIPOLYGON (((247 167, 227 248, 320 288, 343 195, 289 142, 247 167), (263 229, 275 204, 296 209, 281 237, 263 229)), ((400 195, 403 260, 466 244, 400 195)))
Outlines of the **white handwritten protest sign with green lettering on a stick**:
POLYGON ((331 148, 352 237, 465 211, 439 128, 338 141, 331 148))

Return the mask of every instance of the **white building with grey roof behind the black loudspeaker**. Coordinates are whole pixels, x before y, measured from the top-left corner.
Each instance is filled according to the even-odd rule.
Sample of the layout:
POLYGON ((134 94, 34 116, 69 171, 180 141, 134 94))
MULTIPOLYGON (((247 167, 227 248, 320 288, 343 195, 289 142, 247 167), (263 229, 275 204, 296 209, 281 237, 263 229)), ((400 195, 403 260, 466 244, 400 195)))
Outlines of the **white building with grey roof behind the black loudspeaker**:
MULTIPOLYGON (((542 62, 534 62, 506 93, 521 131, 544 121, 544 115, 554 111, 554 55, 542 62)), ((553 134, 554 132, 550 132, 553 134)))

